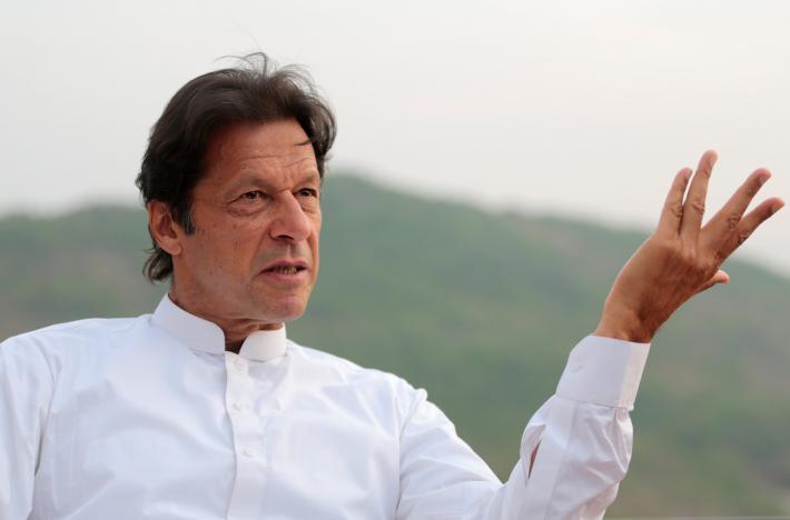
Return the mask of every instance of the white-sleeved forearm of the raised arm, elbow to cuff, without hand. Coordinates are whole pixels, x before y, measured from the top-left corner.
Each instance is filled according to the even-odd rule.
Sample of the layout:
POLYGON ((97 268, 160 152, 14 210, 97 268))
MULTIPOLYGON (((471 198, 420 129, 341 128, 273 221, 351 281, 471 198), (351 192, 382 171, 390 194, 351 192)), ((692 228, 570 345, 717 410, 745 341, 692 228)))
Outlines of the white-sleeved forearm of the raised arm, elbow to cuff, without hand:
POLYGON ((524 513, 510 518, 603 518, 631 460, 629 412, 648 350, 594 336, 573 349, 542 420, 524 513))

